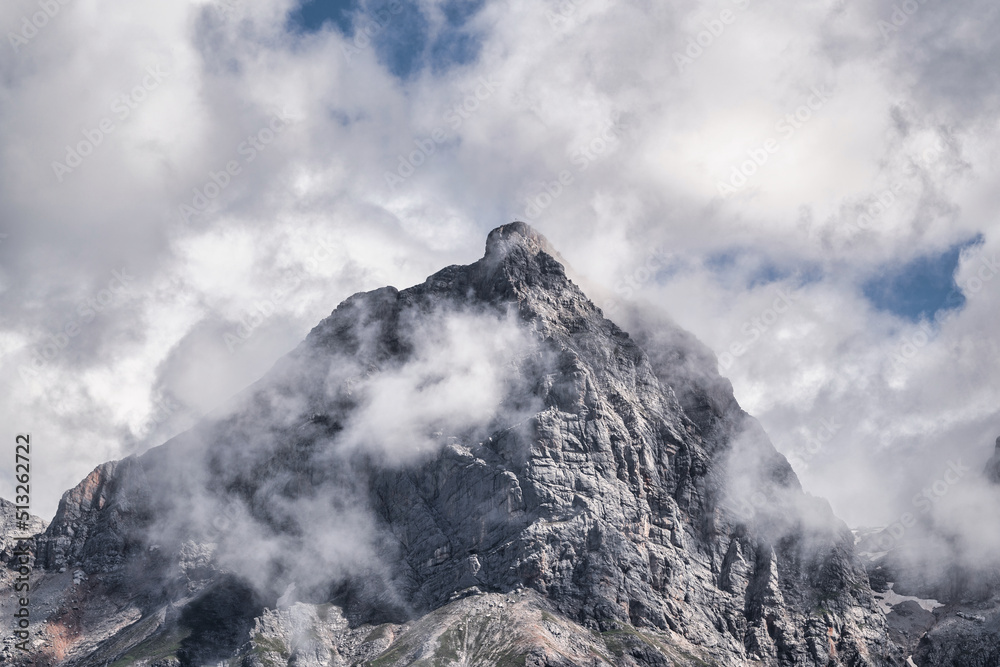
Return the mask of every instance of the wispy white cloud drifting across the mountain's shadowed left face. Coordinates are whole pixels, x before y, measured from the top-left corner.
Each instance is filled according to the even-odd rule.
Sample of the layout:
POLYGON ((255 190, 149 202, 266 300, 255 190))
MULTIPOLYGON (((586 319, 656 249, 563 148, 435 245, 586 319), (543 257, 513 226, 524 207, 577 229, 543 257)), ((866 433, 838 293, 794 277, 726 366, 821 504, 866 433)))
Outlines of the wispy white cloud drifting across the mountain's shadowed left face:
POLYGON ((152 518, 144 541, 180 554, 165 581, 196 587, 222 570, 265 599, 294 586, 326 600, 364 573, 380 582, 381 611, 403 609, 393 578, 404 575, 388 565, 398 536, 372 509, 372 480, 523 423, 543 409, 523 367, 551 361, 514 312, 408 296, 342 306, 261 382, 140 457, 142 472, 120 469, 152 518))

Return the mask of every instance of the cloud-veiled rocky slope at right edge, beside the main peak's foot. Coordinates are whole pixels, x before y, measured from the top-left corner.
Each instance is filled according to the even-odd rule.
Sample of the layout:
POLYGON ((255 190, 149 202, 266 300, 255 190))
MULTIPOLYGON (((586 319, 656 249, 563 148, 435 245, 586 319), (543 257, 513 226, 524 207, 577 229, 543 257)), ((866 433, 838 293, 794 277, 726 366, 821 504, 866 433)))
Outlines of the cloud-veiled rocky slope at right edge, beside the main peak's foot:
POLYGON ((954 488, 923 496, 927 513, 905 531, 890 527, 858 544, 869 552, 876 596, 892 603, 890 636, 921 666, 1000 665, 1000 545, 992 529, 1000 438, 981 475, 966 476, 964 467, 954 466, 954 488))

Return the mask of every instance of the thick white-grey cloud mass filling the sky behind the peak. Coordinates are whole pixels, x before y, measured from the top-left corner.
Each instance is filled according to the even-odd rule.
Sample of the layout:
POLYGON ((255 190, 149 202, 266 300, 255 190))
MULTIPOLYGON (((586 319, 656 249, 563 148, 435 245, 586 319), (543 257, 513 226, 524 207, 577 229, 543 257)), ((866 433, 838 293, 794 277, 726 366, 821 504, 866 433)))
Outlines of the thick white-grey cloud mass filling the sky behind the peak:
MULTIPOLYGON (((917 3, 886 30, 889 0, 654 4, 510 0, 453 20, 458 5, 407 3, 426 43, 390 25, 350 58, 363 13, 354 32, 303 32, 291 0, 67 3, 16 51, 8 38, 0 417, 46 443, 35 510, 51 515, 96 463, 222 404, 350 294, 470 262, 515 217, 602 303, 643 300, 716 352, 742 346, 724 371, 737 397, 851 523, 893 520, 950 456, 985 461, 1000 431, 1000 281, 978 276, 1000 248, 992 6, 917 3), (723 11, 734 19, 716 35, 723 11), (681 71, 675 54, 706 30, 681 71), (157 67, 162 81, 137 94, 157 67), (113 130, 60 181, 52 163, 87 151, 106 118, 113 130), (392 187, 402 163, 412 173, 392 187), (921 323, 866 298, 886 267, 979 237, 955 264, 961 308, 921 323), (335 250, 310 262, 322 243, 335 250), (713 265, 734 249, 734 267, 713 265), (649 270, 652 256, 673 259, 649 270), (136 296, 79 323, 24 382, 19 369, 122 269, 136 296), (794 305, 772 321, 779 292, 794 305)), ((4 33, 37 7, 5 5, 4 33)), ((427 369, 454 361, 424 354, 427 369)), ((370 405, 421 373, 386 374, 370 405)), ((489 413, 460 391, 493 387, 477 373, 403 416, 451 423, 436 406, 455 394, 489 413)), ((357 437, 393 439, 376 427, 357 437)), ((0 478, 0 495, 12 488, 0 478)))

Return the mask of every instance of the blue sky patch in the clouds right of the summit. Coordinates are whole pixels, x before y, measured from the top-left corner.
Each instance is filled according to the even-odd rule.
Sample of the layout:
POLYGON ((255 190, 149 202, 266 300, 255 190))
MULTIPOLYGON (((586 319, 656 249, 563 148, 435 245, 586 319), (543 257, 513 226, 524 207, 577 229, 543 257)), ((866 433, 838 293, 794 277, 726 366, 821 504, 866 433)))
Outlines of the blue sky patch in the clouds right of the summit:
POLYGON ((914 322, 961 308, 965 296, 955 283, 955 270, 962 251, 982 242, 977 236, 941 253, 884 267, 862 285, 862 292, 876 309, 914 322))

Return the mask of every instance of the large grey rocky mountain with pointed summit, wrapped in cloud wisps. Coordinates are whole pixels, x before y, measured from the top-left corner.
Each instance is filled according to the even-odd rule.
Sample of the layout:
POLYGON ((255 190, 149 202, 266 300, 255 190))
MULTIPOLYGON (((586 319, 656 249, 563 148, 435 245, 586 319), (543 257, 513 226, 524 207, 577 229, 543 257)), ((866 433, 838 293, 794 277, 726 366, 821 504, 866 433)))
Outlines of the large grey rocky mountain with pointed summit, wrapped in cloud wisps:
POLYGON ((5 662, 904 664, 852 534, 714 355, 633 334, 523 223, 349 298, 65 494, 35 654, 5 662))

